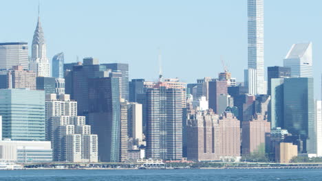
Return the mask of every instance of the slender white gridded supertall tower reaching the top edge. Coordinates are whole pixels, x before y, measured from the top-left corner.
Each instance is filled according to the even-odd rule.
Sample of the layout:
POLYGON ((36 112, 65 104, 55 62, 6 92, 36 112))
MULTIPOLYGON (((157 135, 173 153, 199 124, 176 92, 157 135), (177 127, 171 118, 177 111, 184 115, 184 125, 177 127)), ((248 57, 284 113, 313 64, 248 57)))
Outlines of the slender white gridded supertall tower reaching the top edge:
MULTIPOLYGON (((248 70, 255 79, 248 78, 251 94, 266 94, 264 79, 264 0, 248 0, 248 70), (254 71, 255 70, 255 71, 254 71), (254 93, 255 91, 255 93, 254 93)), ((248 73, 248 75, 250 75, 248 73)))

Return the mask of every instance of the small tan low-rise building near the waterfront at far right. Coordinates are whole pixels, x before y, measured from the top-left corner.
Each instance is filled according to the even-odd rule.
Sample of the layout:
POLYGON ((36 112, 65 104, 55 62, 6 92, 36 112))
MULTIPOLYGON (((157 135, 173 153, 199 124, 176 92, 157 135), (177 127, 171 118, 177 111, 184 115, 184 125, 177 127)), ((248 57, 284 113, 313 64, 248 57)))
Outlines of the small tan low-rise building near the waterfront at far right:
POLYGON ((275 160, 280 163, 289 163, 294 156, 297 156, 297 145, 292 143, 279 143, 276 147, 275 160))

